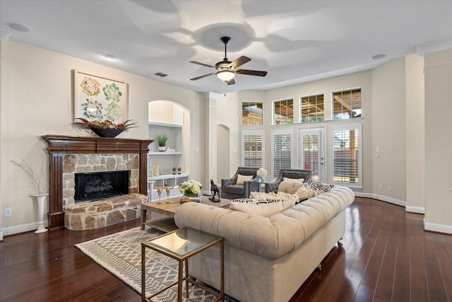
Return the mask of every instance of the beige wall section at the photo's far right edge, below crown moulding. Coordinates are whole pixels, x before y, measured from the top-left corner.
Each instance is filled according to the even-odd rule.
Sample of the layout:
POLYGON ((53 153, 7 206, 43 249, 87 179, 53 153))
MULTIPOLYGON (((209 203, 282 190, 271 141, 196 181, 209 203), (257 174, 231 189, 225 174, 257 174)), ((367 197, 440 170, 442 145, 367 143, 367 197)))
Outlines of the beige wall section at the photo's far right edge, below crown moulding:
POLYGON ((452 233, 452 50, 425 55, 425 228, 452 233))

